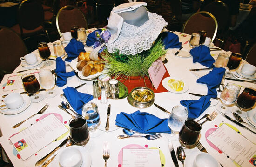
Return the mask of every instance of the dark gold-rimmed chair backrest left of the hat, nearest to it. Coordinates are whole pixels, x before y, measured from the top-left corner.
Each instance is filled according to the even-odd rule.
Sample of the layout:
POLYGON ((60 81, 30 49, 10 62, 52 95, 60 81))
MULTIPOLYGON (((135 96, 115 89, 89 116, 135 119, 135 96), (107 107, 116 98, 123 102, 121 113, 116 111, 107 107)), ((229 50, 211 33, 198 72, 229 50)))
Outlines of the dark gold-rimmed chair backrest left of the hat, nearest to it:
POLYGON ((84 13, 77 7, 67 5, 59 10, 56 17, 56 26, 60 36, 62 36, 61 33, 70 32, 72 25, 88 29, 84 13))

